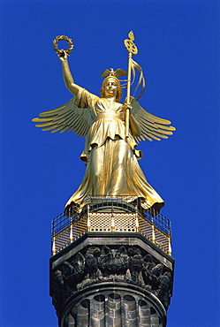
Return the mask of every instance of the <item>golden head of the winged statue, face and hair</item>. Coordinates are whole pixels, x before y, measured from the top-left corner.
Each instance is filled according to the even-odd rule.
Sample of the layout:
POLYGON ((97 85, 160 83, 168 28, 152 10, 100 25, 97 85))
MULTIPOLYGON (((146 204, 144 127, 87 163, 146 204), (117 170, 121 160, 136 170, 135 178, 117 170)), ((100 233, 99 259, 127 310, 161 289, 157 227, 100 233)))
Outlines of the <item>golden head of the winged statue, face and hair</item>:
POLYGON ((120 81, 115 76, 108 76, 102 82, 101 97, 115 96, 116 102, 119 102, 122 97, 120 81))

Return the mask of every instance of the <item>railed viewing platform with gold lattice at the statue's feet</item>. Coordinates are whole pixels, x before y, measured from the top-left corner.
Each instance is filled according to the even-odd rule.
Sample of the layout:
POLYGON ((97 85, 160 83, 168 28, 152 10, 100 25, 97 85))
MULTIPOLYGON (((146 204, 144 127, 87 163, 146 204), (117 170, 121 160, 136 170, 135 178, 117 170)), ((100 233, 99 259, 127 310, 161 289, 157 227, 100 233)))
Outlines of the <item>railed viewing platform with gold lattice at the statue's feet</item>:
POLYGON ((72 207, 52 220, 52 255, 86 232, 140 232, 171 255, 171 222, 156 209, 143 209, 135 196, 87 195, 83 209, 72 207))

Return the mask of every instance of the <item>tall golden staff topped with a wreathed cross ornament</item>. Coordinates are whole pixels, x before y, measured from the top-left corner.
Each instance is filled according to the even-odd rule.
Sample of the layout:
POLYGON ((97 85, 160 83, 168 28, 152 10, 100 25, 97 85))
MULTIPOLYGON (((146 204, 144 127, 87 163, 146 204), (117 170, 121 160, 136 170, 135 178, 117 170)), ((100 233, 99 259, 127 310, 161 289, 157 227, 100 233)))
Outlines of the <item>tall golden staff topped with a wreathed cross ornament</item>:
MULTIPOLYGON (((128 37, 129 37, 129 39, 125 39, 124 44, 125 44, 125 48, 128 50, 126 104, 130 105, 132 61, 133 61, 133 55, 138 54, 138 49, 137 49, 136 45, 133 43, 133 40, 134 40, 133 31, 131 31, 128 34, 128 37)), ((129 132, 129 116, 130 116, 130 109, 126 108, 126 111, 125 111, 125 137, 128 137, 128 132, 129 132)))

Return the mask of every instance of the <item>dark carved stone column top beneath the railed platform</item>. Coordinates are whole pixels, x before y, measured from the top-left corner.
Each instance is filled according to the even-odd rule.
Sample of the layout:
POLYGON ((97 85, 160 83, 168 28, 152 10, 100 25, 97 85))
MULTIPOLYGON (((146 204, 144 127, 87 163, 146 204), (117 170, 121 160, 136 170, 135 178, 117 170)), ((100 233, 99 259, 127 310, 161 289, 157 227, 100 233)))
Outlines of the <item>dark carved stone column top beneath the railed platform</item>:
POLYGON ((173 265, 140 232, 86 232, 50 258, 59 326, 165 326, 173 265))

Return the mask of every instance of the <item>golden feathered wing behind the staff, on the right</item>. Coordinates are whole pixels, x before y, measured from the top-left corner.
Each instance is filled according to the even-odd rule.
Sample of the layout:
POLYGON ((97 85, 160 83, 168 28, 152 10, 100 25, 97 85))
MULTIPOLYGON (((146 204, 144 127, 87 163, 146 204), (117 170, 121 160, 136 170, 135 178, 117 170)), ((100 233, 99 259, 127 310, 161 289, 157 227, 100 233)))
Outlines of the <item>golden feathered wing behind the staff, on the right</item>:
POLYGON ((140 142, 145 141, 161 141, 161 139, 168 139, 168 135, 172 135, 173 131, 176 130, 175 127, 171 126, 171 121, 163 118, 156 117, 150 114, 148 111, 140 107, 140 104, 133 99, 131 103, 131 120, 135 133, 133 137, 135 141, 140 142), (139 131, 139 133, 137 133, 139 131))

